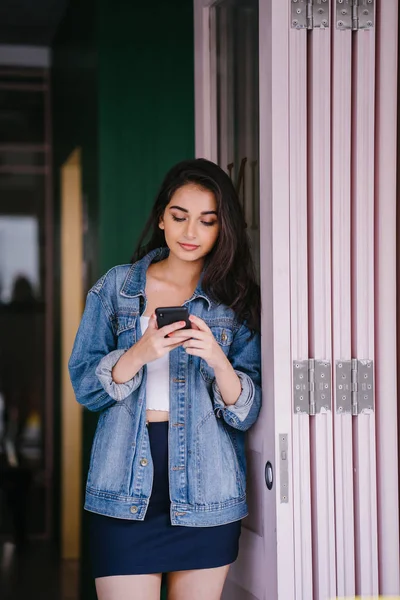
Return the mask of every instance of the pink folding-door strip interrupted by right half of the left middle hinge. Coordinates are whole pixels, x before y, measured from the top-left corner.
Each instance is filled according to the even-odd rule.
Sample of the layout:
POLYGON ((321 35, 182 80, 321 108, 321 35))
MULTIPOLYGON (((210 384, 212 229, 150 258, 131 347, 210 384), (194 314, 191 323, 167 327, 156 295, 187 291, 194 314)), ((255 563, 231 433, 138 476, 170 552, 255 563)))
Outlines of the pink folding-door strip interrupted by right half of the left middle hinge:
MULTIPOLYGON (((309 69, 310 357, 331 360, 331 29, 311 32, 309 69)), ((311 420, 313 576, 321 600, 336 595, 332 427, 331 406, 311 420)))

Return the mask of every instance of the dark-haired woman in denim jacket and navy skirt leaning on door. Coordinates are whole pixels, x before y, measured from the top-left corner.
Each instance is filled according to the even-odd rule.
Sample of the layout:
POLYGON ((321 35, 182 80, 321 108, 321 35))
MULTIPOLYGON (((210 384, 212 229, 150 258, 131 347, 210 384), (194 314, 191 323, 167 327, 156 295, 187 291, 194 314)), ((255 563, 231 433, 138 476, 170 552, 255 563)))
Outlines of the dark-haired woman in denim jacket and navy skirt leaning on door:
POLYGON ((101 411, 85 508, 99 600, 217 600, 247 515, 244 432, 261 404, 259 288, 229 177, 167 174, 133 264, 90 290, 69 363, 101 411), (143 245, 144 240, 150 241, 143 245), (185 305, 158 328, 155 309, 185 305))

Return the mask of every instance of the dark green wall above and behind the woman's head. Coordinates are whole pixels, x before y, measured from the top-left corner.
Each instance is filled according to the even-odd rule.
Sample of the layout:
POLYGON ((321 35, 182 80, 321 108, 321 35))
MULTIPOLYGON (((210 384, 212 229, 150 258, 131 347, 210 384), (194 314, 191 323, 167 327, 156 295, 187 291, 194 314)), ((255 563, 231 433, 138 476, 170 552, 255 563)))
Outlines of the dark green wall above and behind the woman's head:
POLYGON ((166 171, 194 156, 191 0, 101 0, 100 264, 127 262, 166 171))

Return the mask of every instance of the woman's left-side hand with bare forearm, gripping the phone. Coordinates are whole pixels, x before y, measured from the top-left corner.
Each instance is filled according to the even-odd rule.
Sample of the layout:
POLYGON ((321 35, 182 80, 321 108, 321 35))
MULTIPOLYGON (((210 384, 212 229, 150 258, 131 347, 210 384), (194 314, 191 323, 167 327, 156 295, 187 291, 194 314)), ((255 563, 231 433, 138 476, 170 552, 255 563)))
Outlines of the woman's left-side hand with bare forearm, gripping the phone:
POLYGON ((184 326, 185 321, 178 321, 177 323, 172 323, 171 325, 166 325, 165 327, 161 327, 161 329, 157 329, 157 320, 153 313, 143 336, 121 356, 113 368, 112 378, 115 383, 126 383, 127 381, 130 381, 136 373, 140 371, 143 365, 146 365, 157 358, 161 358, 167 354, 167 352, 171 352, 174 348, 181 346, 183 341, 188 339, 190 333, 189 335, 186 333, 186 336, 183 335, 179 341, 165 336, 182 329, 184 326))

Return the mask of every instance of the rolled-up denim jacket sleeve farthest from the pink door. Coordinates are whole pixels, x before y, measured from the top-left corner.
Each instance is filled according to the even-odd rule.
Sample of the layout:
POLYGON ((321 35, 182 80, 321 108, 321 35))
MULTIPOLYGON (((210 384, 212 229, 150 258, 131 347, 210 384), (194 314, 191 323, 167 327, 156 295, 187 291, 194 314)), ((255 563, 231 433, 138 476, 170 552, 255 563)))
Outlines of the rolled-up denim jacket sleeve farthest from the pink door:
POLYGON ((106 306, 96 291, 90 291, 68 363, 80 404, 91 411, 103 410, 139 387, 143 369, 126 383, 117 384, 112 378, 112 369, 124 352, 116 349, 106 306))

